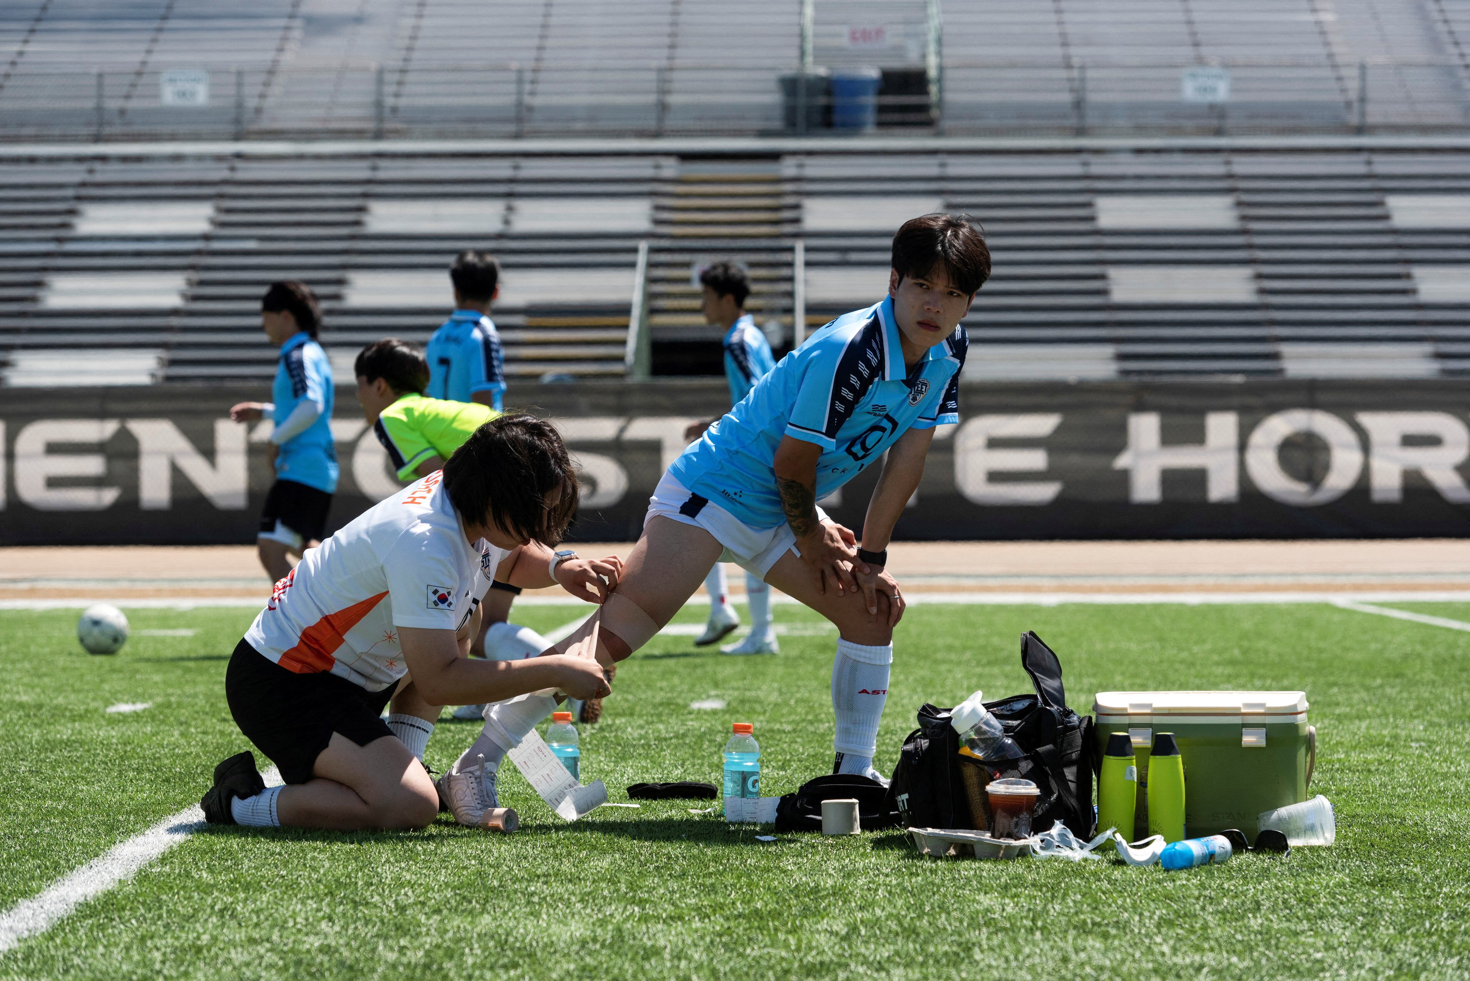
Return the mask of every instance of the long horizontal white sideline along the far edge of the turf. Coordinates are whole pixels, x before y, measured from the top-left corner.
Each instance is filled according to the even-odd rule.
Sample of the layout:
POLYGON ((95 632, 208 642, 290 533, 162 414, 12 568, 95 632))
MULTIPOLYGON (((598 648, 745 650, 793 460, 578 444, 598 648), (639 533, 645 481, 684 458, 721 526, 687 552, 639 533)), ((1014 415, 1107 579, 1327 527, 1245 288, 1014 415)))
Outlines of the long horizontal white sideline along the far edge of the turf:
MULTIPOLYGON (((1213 607, 1213 605, 1269 605, 1269 604, 1333 604, 1345 601, 1364 604, 1392 602, 1427 602, 1427 604, 1464 604, 1470 602, 1470 590, 1430 590, 1430 589, 1395 589, 1376 592, 1289 592, 1289 590, 1258 590, 1258 592, 1188 592, 1188 593, 1044 593, 1044 592, 1010 592, 1010 593, 906 593, 904 599, 910 607, 919 605, 954 605, 954 607, 1061 607, 1067 604, 1100 605, 1100 607, 1135 607, 1135 605, 1182 605, 1182 607, 1213 607)), ((772 602, 788 605, 797 601, 784 593, 773 593, 772 602)), ((123 609, 209 609, 219 607, 251 607, 260 608, 260 601, 251 599, 0 599, 0 611, 4 609, 84 609, 94 602, 112 604, 123 609)), ((738 599, 735 602, 739 602, 738 599)), ((692 605, 704 605, 703 596, 692 599, 692 605)), ((517 607, 584 607, 581 599, 573 596, 522 596, 517 607)), ((581 621, 579 621, 581 623, 581 621)), ((575 630, 575 627, 573 627, 575 630)), ((548 634, 550 636, 550 634, 548 634)))

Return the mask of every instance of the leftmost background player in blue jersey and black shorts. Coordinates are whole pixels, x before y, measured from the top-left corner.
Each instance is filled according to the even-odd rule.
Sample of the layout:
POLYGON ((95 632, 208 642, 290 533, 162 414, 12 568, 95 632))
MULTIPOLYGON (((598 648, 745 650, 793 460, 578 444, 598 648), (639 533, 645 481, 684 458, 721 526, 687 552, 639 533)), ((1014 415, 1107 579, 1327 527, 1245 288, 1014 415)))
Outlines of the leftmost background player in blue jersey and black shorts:
POLYGON ((260 300, 260 326, 281 345, 270 402, 240 402, 229 410, 237 423, 269 416, 275 421, 275 483, 260 511, 256 549, 272 580, 291 571, 290 555, 316 548, 337 492, 337 446, 332 442, 332 363, 316 342, 322 311, 316 297, 295 280, 270 283, 260 300))

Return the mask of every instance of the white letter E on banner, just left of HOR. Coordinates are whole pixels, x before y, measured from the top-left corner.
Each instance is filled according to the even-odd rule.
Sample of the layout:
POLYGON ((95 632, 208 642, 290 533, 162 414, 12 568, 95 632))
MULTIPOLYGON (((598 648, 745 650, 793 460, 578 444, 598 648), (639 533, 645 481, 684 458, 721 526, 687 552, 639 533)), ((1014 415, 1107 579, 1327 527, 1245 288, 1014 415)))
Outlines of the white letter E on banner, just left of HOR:
POLYGON ((964 420, 954 439, 954 483, 975 504, 1044 505, 1061 493, 1060 480, 992 483, 992 473, 1044 473, 1047 451, 1041 446, 991 446, 991 439, 1042 439, 1061 423, 1061 413, 1019 416, 975 416, 964 420))

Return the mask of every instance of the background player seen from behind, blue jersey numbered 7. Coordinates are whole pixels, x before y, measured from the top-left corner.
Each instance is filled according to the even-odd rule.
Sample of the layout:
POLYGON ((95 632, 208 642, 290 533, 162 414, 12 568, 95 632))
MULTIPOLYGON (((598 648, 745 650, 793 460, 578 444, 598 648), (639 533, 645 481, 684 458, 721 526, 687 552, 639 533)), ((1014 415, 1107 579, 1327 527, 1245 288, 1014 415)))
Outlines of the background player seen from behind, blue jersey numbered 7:
POLYGON ((450 266, 454 313, 429 338, 429 398, 504 408, 506 354, 490 319, 500 295, 500 264, 490 253, 466 250, 450 266))

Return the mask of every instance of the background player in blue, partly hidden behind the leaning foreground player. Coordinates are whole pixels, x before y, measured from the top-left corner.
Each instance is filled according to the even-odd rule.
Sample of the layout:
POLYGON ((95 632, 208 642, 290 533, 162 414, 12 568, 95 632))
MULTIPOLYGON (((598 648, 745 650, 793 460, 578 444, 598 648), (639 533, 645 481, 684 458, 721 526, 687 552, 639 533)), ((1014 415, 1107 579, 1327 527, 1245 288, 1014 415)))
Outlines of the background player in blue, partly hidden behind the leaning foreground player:
MULTIPOLYGON (((770 342, 745 313, 745 297, 750 295, 750 278, 736 263, 722 261, 707 266, 700 273, 704 298, 700 313, 704 322, 725 327, 725 380, 731 386, 731 405, 739 405, 747 392, 763 379, 776 360, 770 355, 770 342)), ((695 423, 685 430, 684 438, 694 441, 704 435, 714 420, 695 423)), ((739 626, 739 615, 729 604, 729 586, 725 580, 725 564, 714 562, 704 577, 704 592, 710 598, 710 618, 704 633, 694 646, 717 643, 739 626)), ((745 573, 745 602, 750 605, 750 636, 736 645, 720 648, 725 654, 776 654, 781 648, 770 627, 770 587, 760 576, 745 573)))

